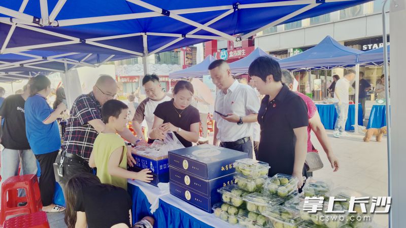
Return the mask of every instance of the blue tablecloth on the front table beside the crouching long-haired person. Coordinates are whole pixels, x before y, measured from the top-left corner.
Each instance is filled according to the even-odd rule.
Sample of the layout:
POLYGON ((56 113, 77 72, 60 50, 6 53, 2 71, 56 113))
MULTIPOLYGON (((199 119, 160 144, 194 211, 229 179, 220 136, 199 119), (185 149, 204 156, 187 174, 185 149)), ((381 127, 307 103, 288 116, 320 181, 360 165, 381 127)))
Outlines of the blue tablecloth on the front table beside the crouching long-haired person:
MULTIPOLYGON (((151 214, 150 207, 151 204, 148 202, 147 197, 141 191, 141 189, 133 184, 128 184, 128 193, 132 199, 132 221, 141 220, 144 216, 152 216, 155 219, 154 227, 157 228, 211 228, 205 222, 202 222, 193 216, 189 215, 187 212, 166 203, 163 200, 159 200, 158 209, 151 214)), ((172 195, 170 195, 172 196, 172 195)), ((196 208, 196 210, 199 210, 196 208)), ((206 213, 206 212, 205 212, 206 213)), ((217 219, 213 216, 213 219, 217 219)), ((227 223, 226 223, 227 224, 227 223)), ((227 226, 227 225, 226 225, 227 226)), ((224 226, 223 226, 224 227, 224 226)))

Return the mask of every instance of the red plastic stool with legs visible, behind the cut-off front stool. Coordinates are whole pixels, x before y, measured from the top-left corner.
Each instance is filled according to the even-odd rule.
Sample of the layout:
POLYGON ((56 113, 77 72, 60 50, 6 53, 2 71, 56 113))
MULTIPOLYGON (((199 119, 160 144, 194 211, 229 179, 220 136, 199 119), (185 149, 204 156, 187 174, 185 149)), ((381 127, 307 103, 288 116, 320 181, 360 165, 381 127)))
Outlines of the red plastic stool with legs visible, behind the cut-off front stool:
POLYGON ((42 209, 40 186, 37 176, 27 174, 12 176, 2 185, 2 206, 0 209, 0 224, 3 224, 7 216, 17 214, 30 214, 42 209), (25 189, 25 197, 18 197, 18 189, 25 189), (8 195, 8 200, 7 200, 8 195), (27 205, 18 207, 18 203, 27 202, 27 205))

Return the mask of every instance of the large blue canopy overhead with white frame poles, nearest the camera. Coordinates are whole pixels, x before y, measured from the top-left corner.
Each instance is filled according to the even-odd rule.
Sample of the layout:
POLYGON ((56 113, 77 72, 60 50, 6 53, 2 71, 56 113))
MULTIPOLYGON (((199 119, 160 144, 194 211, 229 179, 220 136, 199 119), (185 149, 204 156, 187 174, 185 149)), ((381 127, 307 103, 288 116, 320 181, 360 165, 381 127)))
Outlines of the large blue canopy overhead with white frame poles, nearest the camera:
POLYGON ((142 56, 147 66, 151 54, 209 40, 241 41, 278 24, 369 1, 2 1, 0 53, 142 56))

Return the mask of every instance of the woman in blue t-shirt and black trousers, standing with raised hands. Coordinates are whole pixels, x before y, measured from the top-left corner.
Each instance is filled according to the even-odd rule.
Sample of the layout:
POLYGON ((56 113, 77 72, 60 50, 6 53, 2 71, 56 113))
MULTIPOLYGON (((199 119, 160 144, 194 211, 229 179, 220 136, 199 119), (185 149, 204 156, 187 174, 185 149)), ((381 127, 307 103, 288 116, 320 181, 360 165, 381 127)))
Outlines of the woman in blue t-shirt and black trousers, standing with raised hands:
POLYGON ((60 103, 55 110, 49 106, 46 97, 51 93, 51 81, 45 75, 31 79, 29 93, 24 105, 25 133, 32 152, 40 163, 42 210, 63 211, 65 208, 52 203, 55 188, 53 163, 61 146, 56 119, 66 106, 60 103))

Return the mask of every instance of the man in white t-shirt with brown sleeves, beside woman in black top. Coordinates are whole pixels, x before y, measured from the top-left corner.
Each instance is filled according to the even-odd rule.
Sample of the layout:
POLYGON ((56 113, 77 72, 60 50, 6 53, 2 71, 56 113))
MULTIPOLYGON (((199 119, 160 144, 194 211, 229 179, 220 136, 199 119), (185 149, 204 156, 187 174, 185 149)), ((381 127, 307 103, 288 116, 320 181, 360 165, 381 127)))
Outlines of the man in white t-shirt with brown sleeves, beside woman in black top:
MULTIPOLYGON (((145 141, 145 137, 142 131, 141 124, 147 122, 148 130, 152 129, 154 124, 154 111, 158 104, 171 100, 161 88, 159 83, 159 77, 156 74, 147 74, 143 78, 143 87, 147 98, 138 105, 136 114, 132 120, 132 127, 136 131, 137 136, 145 141)), ((148 140, 148 143, 152 143, 153 140, 148 140)))

